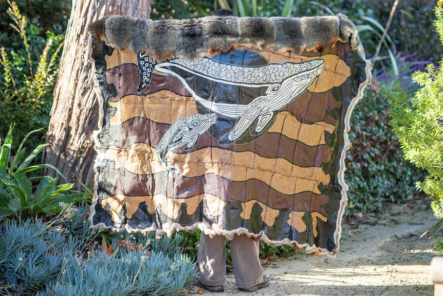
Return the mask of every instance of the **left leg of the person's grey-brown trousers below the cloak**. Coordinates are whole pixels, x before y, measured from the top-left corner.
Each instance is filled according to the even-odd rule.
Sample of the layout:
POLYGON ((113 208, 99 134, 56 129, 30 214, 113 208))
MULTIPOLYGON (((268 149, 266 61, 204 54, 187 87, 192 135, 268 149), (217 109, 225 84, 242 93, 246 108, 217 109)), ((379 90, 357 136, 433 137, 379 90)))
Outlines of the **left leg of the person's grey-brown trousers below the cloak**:
POLYGON ((222 286, 226 281, 225 237, 201 233, 198 247, 199 282, 207 286, 222 286))

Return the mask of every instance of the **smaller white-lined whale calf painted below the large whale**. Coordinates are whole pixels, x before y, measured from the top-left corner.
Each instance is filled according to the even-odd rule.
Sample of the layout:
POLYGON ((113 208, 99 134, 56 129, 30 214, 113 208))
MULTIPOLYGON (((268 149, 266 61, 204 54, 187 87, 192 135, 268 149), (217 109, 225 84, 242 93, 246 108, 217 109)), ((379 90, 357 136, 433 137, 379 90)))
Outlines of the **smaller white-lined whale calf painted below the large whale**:
POLYGON ((188 149, 192 148, 200 134, 206 132, 216 120, 215 113, 195 114, 178 119, 161 137, 156 147, 157 152, 165 155, 167 151, 183 145, 188 149))

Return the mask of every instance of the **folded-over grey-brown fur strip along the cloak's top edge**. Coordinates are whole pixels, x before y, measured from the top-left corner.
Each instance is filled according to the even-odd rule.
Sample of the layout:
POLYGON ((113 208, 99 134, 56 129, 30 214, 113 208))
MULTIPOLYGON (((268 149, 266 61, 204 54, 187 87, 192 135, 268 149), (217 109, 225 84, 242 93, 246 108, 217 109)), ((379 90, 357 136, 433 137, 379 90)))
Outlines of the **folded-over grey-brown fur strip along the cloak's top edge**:
POLYGON ((109 46, 144 51, 158 61, 227 53, 242 46, 301 54, 304 50, 326 51, 341 41, 361 49, 355 25, 343 14, 270 19, 211 15, 159 21, 109 16, 90 24, 88 30, 109 46))

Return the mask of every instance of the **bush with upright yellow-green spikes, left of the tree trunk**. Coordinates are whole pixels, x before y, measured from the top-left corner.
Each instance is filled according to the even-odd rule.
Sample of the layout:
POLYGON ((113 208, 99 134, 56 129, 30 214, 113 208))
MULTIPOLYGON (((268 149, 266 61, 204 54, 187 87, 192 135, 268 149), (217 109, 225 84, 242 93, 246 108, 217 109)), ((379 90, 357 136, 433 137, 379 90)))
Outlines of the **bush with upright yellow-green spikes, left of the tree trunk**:
MULTIPOLYGON (((14 141, 22 138, 35 127, 49 125, 52 92, 56 83, 58 61, 63 35, 50 31, 39 36, 39 29, 28 24, 15 2, 10 3, 7 14, 11 27, 19 34, 21 44, 0 44, 0 121, 16 123, 14 141), (41 51, 41 45, 44 45, 41 51)), ((0 136, 8 129, 0 126, 0 136)), ((45 134, 35 133, 29 144, 43 143, 45 134)))

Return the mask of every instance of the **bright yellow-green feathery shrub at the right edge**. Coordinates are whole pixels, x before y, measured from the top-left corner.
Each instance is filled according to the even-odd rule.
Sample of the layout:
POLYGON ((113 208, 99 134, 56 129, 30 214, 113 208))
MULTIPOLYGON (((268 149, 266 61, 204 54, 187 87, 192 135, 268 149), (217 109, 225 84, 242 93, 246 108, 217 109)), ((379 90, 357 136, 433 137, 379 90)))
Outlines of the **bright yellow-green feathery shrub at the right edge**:
MULTIPOLYGON (((443 8, 435 9, 435 27, 443 42, 443 8)), ((399 137, 404 158, 428 175, 417 187, 434 198, 431 207, 434 215, 443 222, 443 59, 439 68, 430 64, 426 72, 416 72, 413 80, 421 88, 411 98, 399 85, 393 90, 384 89, 390 102, 390 124, 399 137)), ((441 229, 441 227, 439 228, 441 229)), ((438 229, 438 230, 439 230, 438 229)), ((437 230, 437 231, 438 231, 437 230)), ((441 250, 441 247, 439 248, 441 250)))

